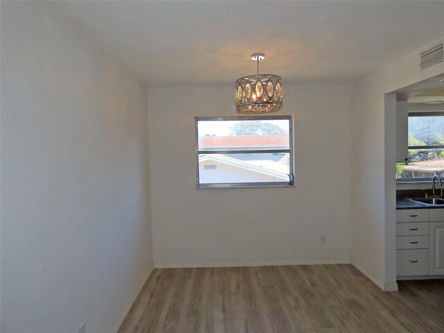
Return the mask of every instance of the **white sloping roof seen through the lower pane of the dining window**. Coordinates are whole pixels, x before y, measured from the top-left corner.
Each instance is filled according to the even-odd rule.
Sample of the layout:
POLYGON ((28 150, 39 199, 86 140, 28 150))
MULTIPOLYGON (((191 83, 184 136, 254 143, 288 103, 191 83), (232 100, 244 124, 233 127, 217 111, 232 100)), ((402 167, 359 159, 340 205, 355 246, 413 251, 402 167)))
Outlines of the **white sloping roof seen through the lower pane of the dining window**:
POLYGON ((225 155, 201 155, 199 157, 199 162, 204 162, 206 160, 212 160, 214 162, 221 162, 224 164, 229 164, 234 167, 239 167, 242 169, 255 171, 259 173, 264 173, 268 176, 273 176, 276 178, 281 178, 283 180, 289 180, 288 167, 284 164, 273 162, 273 161, 242 161, 237 158, 228 157, 225 155))

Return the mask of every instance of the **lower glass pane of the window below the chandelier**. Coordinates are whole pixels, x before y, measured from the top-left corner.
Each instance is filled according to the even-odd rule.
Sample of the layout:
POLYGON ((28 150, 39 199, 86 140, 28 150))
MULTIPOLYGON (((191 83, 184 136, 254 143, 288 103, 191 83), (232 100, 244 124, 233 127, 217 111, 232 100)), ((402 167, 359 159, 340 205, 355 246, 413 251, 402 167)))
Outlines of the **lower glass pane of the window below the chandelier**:
POLYGON ((289 153, 199 155, 200 184, 289 182, 289 153))

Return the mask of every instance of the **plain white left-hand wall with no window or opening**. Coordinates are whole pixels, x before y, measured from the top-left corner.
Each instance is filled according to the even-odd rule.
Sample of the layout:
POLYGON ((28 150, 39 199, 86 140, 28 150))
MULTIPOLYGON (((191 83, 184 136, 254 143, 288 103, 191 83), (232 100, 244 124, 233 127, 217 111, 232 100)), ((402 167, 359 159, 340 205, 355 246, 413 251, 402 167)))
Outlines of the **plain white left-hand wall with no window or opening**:
POLYGON ((116 332, 153 267, 146 88, 44 3, 1 3, 1 332, 116 332))

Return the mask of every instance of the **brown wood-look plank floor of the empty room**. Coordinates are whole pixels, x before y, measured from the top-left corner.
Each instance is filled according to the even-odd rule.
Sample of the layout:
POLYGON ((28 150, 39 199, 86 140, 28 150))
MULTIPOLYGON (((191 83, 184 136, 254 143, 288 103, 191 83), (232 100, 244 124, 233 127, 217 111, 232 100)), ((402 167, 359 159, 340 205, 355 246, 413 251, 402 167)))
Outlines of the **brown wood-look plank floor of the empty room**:
POLYGON ((443 333, 444 280, 399 286, 351 265, 156 269, 119 333, 443 333))

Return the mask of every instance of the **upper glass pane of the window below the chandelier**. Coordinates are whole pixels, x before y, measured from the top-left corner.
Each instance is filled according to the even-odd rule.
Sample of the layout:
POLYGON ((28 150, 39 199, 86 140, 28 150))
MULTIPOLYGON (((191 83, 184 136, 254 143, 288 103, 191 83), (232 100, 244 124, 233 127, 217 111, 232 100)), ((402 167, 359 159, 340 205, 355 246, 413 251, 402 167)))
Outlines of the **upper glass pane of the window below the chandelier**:
POLYGON ((289 149, 289 119, 199 120, 199 151, 289 149))

